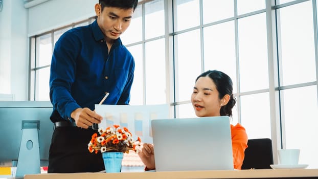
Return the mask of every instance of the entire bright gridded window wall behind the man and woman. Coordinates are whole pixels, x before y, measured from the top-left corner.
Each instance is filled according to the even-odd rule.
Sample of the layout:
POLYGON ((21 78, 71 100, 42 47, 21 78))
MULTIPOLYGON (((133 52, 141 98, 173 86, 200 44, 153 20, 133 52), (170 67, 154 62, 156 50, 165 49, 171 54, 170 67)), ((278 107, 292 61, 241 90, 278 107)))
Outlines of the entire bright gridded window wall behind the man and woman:
MULTIPOLYGON (((171 117, 195 117, 195 78, 220 70, 233 80, 232 123, 249 139, 271 138, 279 148, 301 148, 300 163, 317 168, 316 0, 140 1, 121 36, 135 58, 132 105, 168 103, 171 117), (270 4, 272 3, 272 4, 270 4)), ((67 29, 31 38, 31 100, 49 99, 52 49, 67 29)))

